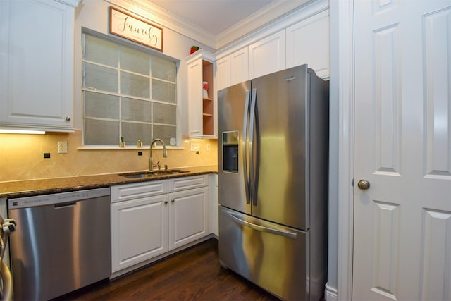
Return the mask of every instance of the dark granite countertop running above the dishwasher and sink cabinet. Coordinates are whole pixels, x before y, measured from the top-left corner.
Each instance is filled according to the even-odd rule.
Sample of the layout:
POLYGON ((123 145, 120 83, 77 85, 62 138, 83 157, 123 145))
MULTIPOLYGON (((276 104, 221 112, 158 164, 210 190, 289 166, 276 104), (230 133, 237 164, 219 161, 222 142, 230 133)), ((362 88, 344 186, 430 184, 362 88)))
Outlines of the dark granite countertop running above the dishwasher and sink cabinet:
POLYGON ((150 178, 125 178, 118 173, 92 176, 73 176, 66 178, 46 178, 37 180, 16 180, 0 182, 0 197, 30 197, 33 195, 49 195, 58 192, 70 192, 93 188, 104 188, 113 185, 137 183, 151 180, 163 180, 186 176, 196 176, 206 173, 217 173, 218 166, 199 166, 178 168, 187 173, 165 174, 150 178))

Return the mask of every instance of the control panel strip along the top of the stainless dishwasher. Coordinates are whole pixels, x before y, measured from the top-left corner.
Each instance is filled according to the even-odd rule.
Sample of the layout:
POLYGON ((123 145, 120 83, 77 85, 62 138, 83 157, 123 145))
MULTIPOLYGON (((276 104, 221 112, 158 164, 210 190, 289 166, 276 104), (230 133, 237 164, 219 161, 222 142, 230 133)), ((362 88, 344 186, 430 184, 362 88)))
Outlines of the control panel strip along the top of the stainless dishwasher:
POLYGON ((11 210, 49 204, 63 204, 66 202, 77 202, 83 199, 92 199, 94 197, 104 197, 105 195, 110 195, 109 187, 61 192, 51 195, 36 195, 34 197, 19 197, 17 199, 8 199, 8 208, 11 210))

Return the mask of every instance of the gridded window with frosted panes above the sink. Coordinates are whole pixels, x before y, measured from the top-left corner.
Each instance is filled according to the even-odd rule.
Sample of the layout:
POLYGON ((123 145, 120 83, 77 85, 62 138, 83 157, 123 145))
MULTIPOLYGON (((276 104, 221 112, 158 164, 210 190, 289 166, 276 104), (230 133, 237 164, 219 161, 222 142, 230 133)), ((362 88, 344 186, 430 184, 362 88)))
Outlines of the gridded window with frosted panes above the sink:
POLYGON ((152 137, 174 145, 177 67, 174 61, 84 33, 85 145, 127 145, 152 137))

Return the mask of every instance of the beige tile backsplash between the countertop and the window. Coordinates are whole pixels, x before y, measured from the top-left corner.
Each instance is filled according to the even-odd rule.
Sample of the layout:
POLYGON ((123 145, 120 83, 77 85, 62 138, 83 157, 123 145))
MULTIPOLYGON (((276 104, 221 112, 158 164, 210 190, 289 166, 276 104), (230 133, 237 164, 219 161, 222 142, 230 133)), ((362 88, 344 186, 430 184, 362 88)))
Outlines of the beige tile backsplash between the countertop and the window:
MULTIPOLYGON (((142 171, 149 168, 149 146, 141 149, 82 149, 82 132, 45 135, 0 134, 0 181, 87 176, 99 173, 142 171), (68 153, 58 154, 58 141, 67 141, 68 153), (142 152, 142 156, 138 156, 142 152), (44 158, 44 153, 50 158, 44 158)), ((154 162, 168 168, 217 164, 217 140, 182 140, 183 149, 153 151, 154 162), (190 143, 199 145, 199 154, 190 152, 190 143), (209 150, 207 150, 209 149, 209 150)))

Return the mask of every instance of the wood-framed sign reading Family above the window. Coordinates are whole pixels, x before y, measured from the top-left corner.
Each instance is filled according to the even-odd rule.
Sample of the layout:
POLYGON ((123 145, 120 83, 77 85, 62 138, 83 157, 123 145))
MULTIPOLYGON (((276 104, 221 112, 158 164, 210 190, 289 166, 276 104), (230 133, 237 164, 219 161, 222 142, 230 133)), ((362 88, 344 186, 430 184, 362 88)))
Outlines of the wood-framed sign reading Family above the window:
POLYGON ((163 51, 163 28, 110 6, 110 33, 163 51))

